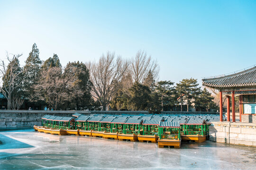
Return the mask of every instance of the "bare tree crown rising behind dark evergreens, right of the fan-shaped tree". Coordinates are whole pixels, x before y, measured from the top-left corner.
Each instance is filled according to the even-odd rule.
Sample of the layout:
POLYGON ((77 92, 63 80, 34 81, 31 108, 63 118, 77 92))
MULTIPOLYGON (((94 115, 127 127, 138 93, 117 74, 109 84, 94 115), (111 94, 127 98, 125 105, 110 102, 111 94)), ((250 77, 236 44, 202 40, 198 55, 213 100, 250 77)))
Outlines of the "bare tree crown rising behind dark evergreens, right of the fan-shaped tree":
POLYGON ((151 56, 147 56, 145 51, 139 50, 132 60, 131 72, 133 82, 146 83, 146 78, 151 74, 153 80, 157 81, 159 75, 159 65, 151 56))

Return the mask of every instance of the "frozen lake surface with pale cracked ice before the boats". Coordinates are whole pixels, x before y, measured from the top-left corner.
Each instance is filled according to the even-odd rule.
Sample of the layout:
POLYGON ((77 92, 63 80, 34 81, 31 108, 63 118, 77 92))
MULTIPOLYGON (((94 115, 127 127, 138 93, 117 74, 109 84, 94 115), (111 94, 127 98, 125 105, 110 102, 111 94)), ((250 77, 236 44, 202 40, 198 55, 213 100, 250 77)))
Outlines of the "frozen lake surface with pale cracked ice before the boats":
POLYGON ((0 132, 0 170, 142 169, 255 170, 256 148, 217 144, 157 144, 85 136, 55 136, 33 129, 0 132))

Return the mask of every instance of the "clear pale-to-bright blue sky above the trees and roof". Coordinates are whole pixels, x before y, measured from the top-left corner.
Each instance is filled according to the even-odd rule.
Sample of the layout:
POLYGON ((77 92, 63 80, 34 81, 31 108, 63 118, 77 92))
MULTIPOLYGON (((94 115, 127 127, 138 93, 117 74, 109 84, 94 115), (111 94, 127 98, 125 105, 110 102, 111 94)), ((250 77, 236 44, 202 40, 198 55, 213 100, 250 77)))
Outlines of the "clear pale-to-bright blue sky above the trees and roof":
POLYGON ((33 43, 40 58, 130 59, 141 49, 160 80, 217 76, 256 64, 255 0, 0 0, 0 59, 33 43))

